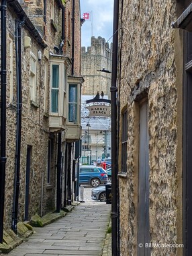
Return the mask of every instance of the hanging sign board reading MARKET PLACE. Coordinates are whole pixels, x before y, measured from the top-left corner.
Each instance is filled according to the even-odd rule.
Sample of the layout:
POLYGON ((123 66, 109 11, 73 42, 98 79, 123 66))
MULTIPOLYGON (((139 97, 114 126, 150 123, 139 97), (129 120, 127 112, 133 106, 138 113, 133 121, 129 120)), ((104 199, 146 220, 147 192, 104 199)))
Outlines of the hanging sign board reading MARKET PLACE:
POLYGON ((87 106, 89 117, 111 117, 111 106, 92 105, 87 106))

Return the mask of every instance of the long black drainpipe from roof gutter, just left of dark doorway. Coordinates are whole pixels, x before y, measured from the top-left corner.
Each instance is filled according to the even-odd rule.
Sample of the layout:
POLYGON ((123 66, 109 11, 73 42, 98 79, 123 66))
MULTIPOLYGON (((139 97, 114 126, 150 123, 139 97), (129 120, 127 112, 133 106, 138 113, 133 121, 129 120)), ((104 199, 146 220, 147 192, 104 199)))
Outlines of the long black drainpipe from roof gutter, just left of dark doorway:
POLYGON ((15 22, 15 51, 16 51, 16 72, 17 72, 17 131, 15 149, 15 178, 13 193, 13 214, 12 230, 17 234, 17 216, 19 204, 20 185, 20 158, 21 158, 21 111, 22 111, 22 77, 21 77, 21 26, 25 22, 15 22))

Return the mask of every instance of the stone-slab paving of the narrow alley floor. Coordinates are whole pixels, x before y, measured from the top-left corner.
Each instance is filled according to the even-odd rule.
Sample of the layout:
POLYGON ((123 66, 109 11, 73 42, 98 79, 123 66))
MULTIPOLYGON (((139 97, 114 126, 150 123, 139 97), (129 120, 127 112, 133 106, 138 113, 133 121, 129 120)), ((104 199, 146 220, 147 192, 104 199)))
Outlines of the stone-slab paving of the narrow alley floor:
POLYGON ((7 256, 101 256, 110 212, 105 203, 81 203, 56 222, 34 228, 35 234, 7 256))

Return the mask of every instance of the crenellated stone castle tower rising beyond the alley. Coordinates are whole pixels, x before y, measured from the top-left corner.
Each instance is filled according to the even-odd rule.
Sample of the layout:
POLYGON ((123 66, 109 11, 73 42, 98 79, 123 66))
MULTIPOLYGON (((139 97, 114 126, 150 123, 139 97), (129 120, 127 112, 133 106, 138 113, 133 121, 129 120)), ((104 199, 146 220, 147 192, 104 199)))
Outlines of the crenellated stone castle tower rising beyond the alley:
POLYGON ((98 70, 111 71, 111 46, 105 42, 104 38, 99 36, 91 37, 91 46, 81 47, 81 74, 85 79, 83 84, 84 95, 96 95, 101 91, 110 98, 111 74, 98 70))

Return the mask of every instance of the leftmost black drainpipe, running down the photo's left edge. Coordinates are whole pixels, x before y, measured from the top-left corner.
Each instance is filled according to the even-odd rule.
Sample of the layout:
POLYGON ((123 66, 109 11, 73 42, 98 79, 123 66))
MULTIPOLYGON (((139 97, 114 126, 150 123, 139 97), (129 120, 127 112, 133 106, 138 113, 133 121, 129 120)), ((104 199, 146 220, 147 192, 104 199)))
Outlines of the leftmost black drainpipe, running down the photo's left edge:
POLYGON ((1 155, 0 155, 0 243, 3 243, 6 158, 6 11, 7 1, 1 1, 1 155))

